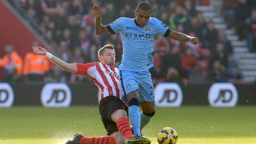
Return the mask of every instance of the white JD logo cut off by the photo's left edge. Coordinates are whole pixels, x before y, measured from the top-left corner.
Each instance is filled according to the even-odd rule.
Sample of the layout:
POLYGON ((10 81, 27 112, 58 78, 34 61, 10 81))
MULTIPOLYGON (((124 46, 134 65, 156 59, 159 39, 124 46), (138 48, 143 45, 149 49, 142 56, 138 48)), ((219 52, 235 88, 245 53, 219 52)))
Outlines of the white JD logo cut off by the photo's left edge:
POLYGON ((12 87, 8 83, 0 83, 0 107, 11 107, 14 101, 12 87))

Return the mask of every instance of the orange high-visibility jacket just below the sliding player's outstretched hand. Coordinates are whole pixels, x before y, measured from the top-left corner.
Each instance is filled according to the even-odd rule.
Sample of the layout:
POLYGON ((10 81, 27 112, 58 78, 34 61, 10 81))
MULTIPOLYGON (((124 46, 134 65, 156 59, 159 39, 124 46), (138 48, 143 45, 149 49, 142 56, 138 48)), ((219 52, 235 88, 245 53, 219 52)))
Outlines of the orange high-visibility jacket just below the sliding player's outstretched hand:
POLYGON ((47 57, 28 52, 24 58, 23 75, 39 74, 43 75, 49 69, 47 57))

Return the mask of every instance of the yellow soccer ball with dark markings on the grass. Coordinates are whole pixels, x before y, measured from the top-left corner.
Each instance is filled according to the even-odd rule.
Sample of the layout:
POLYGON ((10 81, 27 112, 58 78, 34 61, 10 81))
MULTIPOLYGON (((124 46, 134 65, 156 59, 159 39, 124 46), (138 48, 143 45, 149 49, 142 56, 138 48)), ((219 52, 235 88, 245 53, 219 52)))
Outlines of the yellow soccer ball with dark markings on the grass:
POLYGON ((158 144, 176 144, 177 140, 178 134, 171 127, 165 127, 157 134, 158 144))

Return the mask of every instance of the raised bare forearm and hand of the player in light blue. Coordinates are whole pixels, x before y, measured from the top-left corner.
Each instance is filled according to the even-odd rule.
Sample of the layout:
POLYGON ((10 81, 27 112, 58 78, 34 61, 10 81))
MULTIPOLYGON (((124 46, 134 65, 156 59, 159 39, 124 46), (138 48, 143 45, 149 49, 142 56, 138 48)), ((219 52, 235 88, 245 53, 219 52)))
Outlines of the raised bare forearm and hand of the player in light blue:
POLYGON ((107 27, 103 26, 101 23, 102 11, 97 4, 93 5, 93 11, 94 11, 94 16, 95 16, 95 26, 94 27, 95 27, 96 35, 109 34, 110 32, 108 31, 107 27))

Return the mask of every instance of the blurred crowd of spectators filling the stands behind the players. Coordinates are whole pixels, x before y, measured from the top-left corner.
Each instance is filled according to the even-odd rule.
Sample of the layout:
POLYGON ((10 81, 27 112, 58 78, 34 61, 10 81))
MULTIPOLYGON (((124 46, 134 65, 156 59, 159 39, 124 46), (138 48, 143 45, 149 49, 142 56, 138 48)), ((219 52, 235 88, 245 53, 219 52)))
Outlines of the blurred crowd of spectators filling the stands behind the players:
MULTIPOLYGON (((216 29, 212 20, 204 20, 203 13, 195 9, 195 0, 145 1, 151 3, 152 17, 157 17, 172 30, 196 36, 200 40, 200 43, 194 46, 190 42, 182 43, 157 36, 152 53, 154 67, 150 69, 155 84, 248 82, 239 69, 238 58, 233 53, 230 40, 227 39, 226 29, 216 29)), ((29 24, 39 28, 39 34, 44 37, 50 49, 65 62, 98 61, 98 49, 111 43, 115 46, 116 66, 119 66, 122 58, 121 36, 95 34, 93 3, 97 3, 102 9, 102 24, 108 25, 119 17, 134 18, 134 11, 140 2, 141 0, 10 0, 15 9, 26 13, 29 24)), ((256 47, 254 6, 256 0, 223 0, 221 9, 228 25, 227 29, 235 27, 239 38, 248 40, 250 52, 254 52, 256 47)), ((37 59, 32 58, 36 57, 32 52, 28 52, 24 59, 18 58, 16 67, 8 66, 10 63, 6 61, 11 60, 12 55, 18 54, 11 45, 6 46, 5 50, 6 56, 0 60, 0 66, 7 69, 4 81, 87 81, 84 76, 64 72, 58 67, 49 69, 49 63, 44 57, 32 60, 37 59), (28 65, 41 69, 29 70, 26 68, 28 65)))

